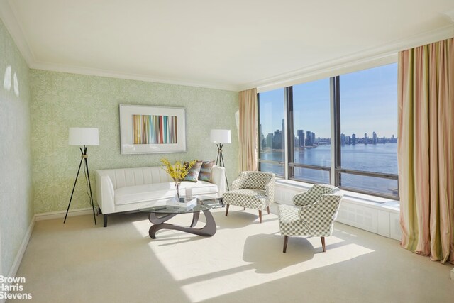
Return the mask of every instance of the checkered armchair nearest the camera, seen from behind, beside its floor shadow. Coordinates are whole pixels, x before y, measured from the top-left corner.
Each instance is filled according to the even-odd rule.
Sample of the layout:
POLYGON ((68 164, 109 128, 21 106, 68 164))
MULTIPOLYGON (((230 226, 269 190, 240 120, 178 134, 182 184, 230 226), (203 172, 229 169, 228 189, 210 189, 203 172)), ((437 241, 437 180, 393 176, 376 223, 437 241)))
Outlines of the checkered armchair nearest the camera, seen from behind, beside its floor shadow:
POLYGON ((283 252, 287 251, 289 236, 320 237, 323 252, 326 252, 325 237, 333 234, 341 199, 342 194, 337 187, 314 184, 309 191, 293 197, 294 205, 279 205, 283 252))

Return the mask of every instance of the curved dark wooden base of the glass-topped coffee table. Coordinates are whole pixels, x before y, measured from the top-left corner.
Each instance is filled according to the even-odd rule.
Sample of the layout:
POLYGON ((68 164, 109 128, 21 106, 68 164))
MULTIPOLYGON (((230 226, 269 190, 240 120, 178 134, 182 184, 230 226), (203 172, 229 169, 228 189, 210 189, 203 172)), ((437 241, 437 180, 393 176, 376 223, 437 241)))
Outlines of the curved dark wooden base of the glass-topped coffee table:
POLYGON ((174 229, 176 231, 184 231, 186 233, 192 233, 198 236, 211 237, 216 233, 216 222, 214 221, 213 215, 209 210, 204 210, 204 215, 206 218, 206 224, 202 228, 194 228, 197 222, 199 221, 200 211, 192 213, 192 223, 191 226, 179 226, 175 224, 164 223, 165 221, 173 218, 177 214, 165 214, 165 216, 156 216, 156 214, 150 213, 148 218, 153 225, 150 227, 148 234, 152 239, 155 239, 156 232, 161 229, 174 229))

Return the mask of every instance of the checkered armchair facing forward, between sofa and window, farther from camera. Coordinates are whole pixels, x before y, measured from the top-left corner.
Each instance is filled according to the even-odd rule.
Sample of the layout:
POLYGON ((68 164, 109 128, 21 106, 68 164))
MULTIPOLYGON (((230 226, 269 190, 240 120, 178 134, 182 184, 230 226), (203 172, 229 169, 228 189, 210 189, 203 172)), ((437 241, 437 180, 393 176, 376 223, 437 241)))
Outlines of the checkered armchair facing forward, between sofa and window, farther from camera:
POLYGON ((231 190, 223 194, 226 216, 231 205, 244 209, 258 209, 262 223, 262 210, 270 214, 270 205, 275 202, 275 174, 270 172, 240 172, 233 180, 231 190))

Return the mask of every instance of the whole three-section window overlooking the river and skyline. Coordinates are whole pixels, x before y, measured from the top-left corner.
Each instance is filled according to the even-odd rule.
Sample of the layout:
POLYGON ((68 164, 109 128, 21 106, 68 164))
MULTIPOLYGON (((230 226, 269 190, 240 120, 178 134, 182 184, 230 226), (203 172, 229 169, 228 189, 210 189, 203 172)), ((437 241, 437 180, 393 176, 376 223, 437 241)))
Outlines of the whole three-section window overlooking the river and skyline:
POLYGON ((258 99, 260 170, 398 199, 397 64, 258 99))

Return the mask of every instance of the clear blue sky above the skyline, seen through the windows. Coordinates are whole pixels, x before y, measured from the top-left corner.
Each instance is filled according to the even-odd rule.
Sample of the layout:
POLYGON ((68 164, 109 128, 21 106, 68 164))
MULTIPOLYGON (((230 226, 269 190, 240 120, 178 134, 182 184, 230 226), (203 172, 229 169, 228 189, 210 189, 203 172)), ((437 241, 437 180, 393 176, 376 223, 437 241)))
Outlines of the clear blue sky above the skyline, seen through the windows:
MULTIPOLYGON (((397 137, 397 63, 340 77, 341 133, 372 137, 397 137)), ((330 138, 329 79, 298 84, 294 92, 294 133, 311 131, 330 138)), ((284 89, 260 93, 262 133, 282 129, 284 89)))

